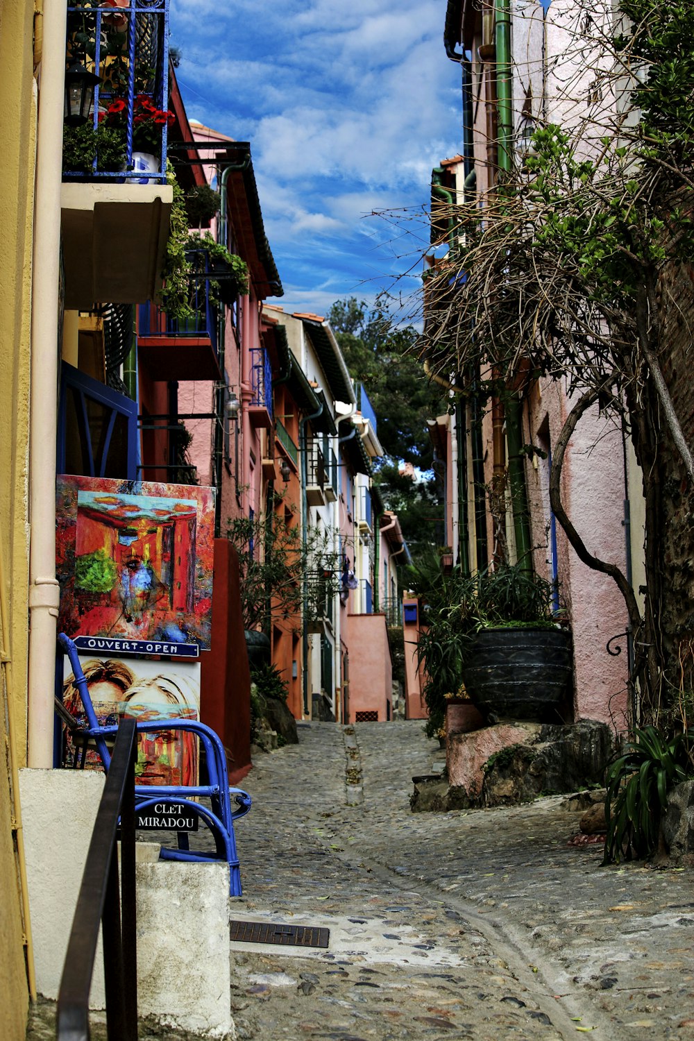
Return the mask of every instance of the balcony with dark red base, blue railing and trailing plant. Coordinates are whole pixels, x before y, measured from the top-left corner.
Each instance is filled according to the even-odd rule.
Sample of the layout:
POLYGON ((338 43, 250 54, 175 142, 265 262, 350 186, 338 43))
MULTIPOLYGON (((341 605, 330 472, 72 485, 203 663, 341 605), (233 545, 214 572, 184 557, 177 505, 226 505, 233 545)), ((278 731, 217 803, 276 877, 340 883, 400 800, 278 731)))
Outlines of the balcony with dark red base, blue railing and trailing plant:
POLYGON ((209 275, 209 253, 191 251, 198 272, 190 280, 191 315, 172 319, 156 304, 143 304, 137 314, 137 348, 154 379, 219 380, 217 304, 209 275))

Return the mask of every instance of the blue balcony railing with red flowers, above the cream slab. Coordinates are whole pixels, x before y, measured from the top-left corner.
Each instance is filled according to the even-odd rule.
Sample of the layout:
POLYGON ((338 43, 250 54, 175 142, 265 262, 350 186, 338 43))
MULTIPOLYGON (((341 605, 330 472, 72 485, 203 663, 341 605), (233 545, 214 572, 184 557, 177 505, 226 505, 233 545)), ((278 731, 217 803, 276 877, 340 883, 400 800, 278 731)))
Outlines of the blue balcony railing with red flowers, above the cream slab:
POLYGON ((85 119, 71 119, 66 101, 63 177, 69 180, 166 182, 168 128, 174 119, 166 107, 169 0, 125 3, 68 6, 68 91, 72 84, 73 97, 78 95, 80 71, 98 77, 85 119))

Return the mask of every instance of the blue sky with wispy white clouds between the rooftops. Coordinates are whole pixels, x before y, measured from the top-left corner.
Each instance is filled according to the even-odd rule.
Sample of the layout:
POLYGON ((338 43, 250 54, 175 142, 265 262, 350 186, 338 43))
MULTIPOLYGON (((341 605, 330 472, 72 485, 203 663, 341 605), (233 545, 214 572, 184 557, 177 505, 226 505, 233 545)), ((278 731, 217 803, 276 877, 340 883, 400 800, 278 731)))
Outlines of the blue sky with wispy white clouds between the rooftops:
MULTIPOLYGON (((445 0, 172 0, 190 119, 251 143, 287 310, 371 301, 427 246, 432 167, 461 141, 445 0), (371 218, 372 210, 400 214, 371 218)), ((418 278, 397 283, 404 294, 418 278)))

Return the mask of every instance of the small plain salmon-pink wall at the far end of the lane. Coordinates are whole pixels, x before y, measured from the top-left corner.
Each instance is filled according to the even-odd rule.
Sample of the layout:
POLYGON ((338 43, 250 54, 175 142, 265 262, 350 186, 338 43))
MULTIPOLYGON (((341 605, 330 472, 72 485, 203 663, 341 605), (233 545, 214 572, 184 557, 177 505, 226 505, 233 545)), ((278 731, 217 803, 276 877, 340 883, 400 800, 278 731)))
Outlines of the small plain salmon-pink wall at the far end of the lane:
POLYGON ((383 722, 392 716, 392 663, 385 615, 353 614, 349 625, 353 641, 349 721, 354 722, 358 712, 377 712, 378 721, 383 722))

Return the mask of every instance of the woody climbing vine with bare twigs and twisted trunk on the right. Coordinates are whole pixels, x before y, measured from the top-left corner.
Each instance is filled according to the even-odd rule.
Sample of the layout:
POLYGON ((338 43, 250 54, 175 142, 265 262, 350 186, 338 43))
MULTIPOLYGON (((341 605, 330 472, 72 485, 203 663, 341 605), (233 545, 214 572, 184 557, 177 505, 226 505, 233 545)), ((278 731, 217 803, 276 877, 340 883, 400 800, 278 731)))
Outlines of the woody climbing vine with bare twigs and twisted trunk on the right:
POLYGON ((597 21, 588 3, 567 14, 562 58, 581 76, 567 77, 562 100, 574 92, 581 121, 538 126, 486 197, 449 207, 458 246, 426 280, 421 353, 445 379, 464 384, 481 371, 507 393, 540 377, 565 382, 575 403, 555 446, 552 509, 581 559, 624 596, 635 715, 658 722, 675 690, 678 639, 663 626, 664 453, 694 484, 663 372, 672 309, 663 276, 694 255, 694 51, 688 3, 623 0, 613 17, 597 21), (596 404, 631 435, 643 474, 643 610, 619 567, 589 553, 561 502, 565 449, 596 404))

